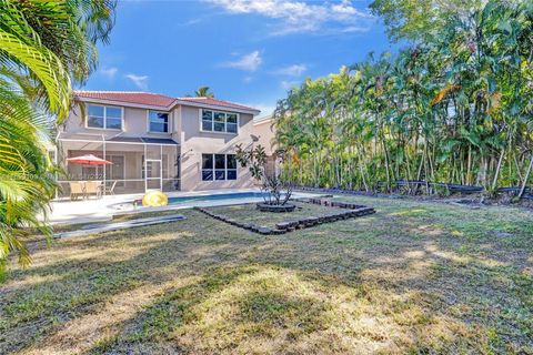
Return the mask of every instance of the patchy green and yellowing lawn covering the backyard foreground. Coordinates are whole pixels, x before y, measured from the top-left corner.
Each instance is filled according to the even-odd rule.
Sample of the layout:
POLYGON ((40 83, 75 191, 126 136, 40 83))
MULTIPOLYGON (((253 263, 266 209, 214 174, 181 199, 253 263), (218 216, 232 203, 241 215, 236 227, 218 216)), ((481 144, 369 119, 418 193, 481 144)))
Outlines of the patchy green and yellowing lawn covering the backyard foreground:
POLYGON ((0 288, 0 354, 533 352, 531 211, 342 200, 378 213, 263 236, 188 210, 37 242, 0 288))

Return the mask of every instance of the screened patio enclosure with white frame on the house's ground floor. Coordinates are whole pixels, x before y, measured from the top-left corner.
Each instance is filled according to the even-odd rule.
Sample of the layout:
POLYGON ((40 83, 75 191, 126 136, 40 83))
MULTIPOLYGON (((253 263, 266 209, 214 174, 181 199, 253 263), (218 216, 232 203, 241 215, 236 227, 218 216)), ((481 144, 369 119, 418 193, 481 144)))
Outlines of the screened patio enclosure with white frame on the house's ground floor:
POLYGON ((57 140, 56 161, 62 172, 58 196, 70 194, 70 183, 98 181, 103 193, 143 193, 180 190, 180 146, 170 139, 105 138, 97 134, 64 134, 57 140), (84 165, 67 159, 93 154, 111 164, 84 165))

